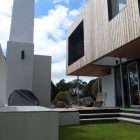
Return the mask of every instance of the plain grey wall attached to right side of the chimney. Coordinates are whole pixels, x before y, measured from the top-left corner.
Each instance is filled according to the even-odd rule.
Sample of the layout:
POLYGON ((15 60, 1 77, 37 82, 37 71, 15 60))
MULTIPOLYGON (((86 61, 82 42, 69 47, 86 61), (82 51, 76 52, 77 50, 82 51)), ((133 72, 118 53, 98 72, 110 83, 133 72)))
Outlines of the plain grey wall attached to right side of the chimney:
POLYGON ((40 106, 51 105, 51 57, 34 55, 33 93, 40 106))

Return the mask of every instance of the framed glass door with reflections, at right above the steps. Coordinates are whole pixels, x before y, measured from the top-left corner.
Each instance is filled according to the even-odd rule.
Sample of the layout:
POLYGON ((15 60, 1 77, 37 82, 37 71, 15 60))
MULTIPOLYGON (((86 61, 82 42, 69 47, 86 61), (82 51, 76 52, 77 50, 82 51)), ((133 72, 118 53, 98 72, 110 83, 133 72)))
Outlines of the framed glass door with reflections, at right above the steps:
POLYGON ((130 105, 140 106, 140 88, 137 63, 128 64, 130 105))

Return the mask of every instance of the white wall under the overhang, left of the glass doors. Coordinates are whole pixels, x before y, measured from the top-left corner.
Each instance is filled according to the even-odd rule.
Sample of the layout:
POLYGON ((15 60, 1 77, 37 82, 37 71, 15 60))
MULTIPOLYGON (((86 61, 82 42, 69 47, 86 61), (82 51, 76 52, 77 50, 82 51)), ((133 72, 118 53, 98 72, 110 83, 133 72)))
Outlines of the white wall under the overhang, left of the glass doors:
POLYGON ((102 77, 102 92, 107 93, 106 106, 115 107, 115 77, 114 70, 112 68, 111 74, 105 77, 102 77))

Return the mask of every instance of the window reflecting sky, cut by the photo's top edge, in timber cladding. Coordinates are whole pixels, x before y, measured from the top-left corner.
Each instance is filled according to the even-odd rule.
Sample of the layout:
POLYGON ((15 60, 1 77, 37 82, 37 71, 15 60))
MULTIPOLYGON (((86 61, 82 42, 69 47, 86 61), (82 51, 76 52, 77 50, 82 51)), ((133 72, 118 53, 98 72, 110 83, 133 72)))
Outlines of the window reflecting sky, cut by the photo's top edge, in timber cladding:
POLYGON ((108 0, 109 20, 115 17, 127 5, 127 0, 108 0))

